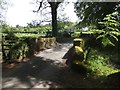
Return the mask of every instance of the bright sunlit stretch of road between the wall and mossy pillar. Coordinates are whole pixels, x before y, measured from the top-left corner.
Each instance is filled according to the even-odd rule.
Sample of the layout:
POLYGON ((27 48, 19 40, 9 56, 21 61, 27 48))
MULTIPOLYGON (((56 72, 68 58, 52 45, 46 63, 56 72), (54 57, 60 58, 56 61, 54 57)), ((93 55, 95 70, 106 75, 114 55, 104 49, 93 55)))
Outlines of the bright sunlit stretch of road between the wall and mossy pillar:
POLYGON ((62 57, 65 55, 65 53, 69 50, 69 48, 72 47, 72 43, 68 44, 68 43, 63 43, 63 44, 59 44, 58 46, 55 46, 51 49, 47 49, 43 52, 40 52, 39 54, 37 54, 37 57, 45 57, 47 59, 53 59, 58 60, 60 62, 63 62, 62 57))

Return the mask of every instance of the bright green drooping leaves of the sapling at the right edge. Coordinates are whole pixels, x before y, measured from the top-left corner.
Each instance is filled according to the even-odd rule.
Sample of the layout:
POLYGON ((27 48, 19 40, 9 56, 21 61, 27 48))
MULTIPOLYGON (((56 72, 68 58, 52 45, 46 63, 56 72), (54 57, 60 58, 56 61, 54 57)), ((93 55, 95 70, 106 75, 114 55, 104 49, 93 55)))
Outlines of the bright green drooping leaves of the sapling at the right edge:
POLYGON ((117 33, 119 31, 118 27, 120 26, 119 22, 115 18, 115 16, 117 14, 118 14, 118 12, 114 12, 112 14, 108 14, 103 19, 102 22, 98 22, 100 25, 103 26, 103 29, 100 30, 100 31, 102 31, 102 34, 99 35, 97 37, 97 39, 102 38, 102 44, 104 46, 107 46, 107 45, 115 46, 115 44, 111 40, 112 38, 115 41, 118 41, 117 35, 115 34, 115 32, 117 33))

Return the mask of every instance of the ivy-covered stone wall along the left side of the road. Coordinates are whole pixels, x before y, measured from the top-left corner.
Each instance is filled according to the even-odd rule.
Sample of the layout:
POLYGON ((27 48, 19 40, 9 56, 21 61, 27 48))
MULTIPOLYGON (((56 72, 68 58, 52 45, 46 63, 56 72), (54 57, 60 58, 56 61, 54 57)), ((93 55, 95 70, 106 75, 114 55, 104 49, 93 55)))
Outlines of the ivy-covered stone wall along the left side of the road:
POLYGON ((4 53, 3 60, 7 63, 22 62, 24 58, 30 57, 42 49, 50 48, 55 45, 54 38, 32 38, 25 36, 15 39, 11 44, 9 42, 13 42, 13 40, 3 40, 4 45, 7 45, 2 51, 4 53))

